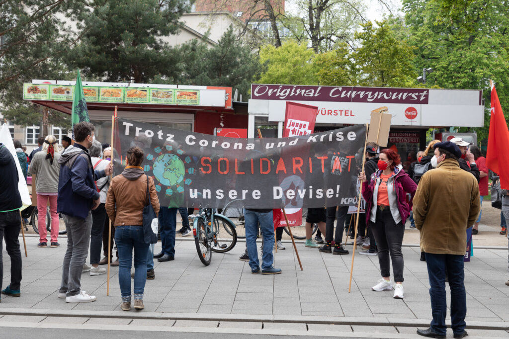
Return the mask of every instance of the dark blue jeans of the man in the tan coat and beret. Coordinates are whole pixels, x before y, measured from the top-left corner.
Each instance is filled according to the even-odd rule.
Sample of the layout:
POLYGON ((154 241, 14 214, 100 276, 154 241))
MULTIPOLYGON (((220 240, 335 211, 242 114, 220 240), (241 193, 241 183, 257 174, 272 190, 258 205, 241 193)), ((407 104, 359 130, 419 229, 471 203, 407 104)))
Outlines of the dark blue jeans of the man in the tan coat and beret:
POLYGON ((445 274, 449 278, 450 287, 450 318, 451 327, 455 334, 465 330, 465 315, 467 314, 467 297, 463 280, 464 256, 426 253, 428 276, 430 279, 430 297, 433 320, 431 329, 440 335, 445 335, 445 316, 447 301, 445 299, 445 274))

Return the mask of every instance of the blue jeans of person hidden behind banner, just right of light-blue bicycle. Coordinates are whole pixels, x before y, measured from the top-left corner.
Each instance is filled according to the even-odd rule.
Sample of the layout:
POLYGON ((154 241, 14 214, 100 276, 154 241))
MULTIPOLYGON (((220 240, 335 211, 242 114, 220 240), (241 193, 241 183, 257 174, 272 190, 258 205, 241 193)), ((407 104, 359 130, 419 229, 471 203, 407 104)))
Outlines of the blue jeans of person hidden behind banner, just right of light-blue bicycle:
POLYGON ((274 247, 274 220, 272 211, 261 213, 244 209, 244 219, 249 266, 253 270, 260 269, 256 245, 258 223, 260 222, 260 230, 263 237, 262 270, 271 268, 274 263, 274 256, 272 255, 274 247))

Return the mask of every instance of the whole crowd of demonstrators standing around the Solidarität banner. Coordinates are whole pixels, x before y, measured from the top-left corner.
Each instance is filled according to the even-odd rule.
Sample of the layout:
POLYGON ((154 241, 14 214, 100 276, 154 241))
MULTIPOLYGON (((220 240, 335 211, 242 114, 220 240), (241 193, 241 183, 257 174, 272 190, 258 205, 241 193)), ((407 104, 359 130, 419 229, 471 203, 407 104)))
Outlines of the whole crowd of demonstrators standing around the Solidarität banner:
MULTIPOLYGON (((53 135, 39 139, 39 148, 27 156, 21 144, 14 145, 23 175, 36 178, 35 191, 39 216, 39 244, 47 247, 46 210, 49 206, 51 224, 63 217, 67 230, 67 249, 63 261, 62 283, 58 297, 66 302, 96 300, 81 289, 82 272, 90 275, 106 272, 101 267, 108 262, 119 266, 122 309, 142 309, 146 279, 155 278, 154 259, 167 262, 175 259, 175 235, 191 234, 186 208, 160 208, 152 177, 141 167, 144 151, 135 145, 127 151, 123 172, 111 179, 112 149, 95 139, 92 124, 82 122, 74 126, 74 143, 62 140, 59 150, 53 135), (143 241, 143 209, 149 200, 159 219, 161 251, 154 253, 154 245, 143 241), (182 228, 176 231, 176 216, 180 212, 182 228), (111 234, 111 238, 108 236, 111 234), (111 244, 108 246, 107 244, 111 244), (112 247, 116 245, 116 260, 112 247), (86 264, 90 249, 90 265, 86 264), (101 250, 103 258, 101 259, 101 250), (134 253, 134 256, 133 256, 134 253), (131 274, 132 262, 134 272, 131 274), (133 293, 131 293, 131 278, 133 293)), ((323 154, 321 145, 315 155, 323 154)), ((421 260, 426 261, 430 277, 430 296, 433 321, 419 334, 440 337, 445 334, 445 281, 451 287, 451 318, 455 337, 466 335, 466 296, 463 284, 463 258, 466 230, 473 226, 478 233, 483 196, 488 195, 488 168, 480 150, 462 138, 447 142, 433 140, 428 148, 417 153, 417 161, 403 170, 401 158, 391 149, 375 143, 366 145, 364 171, 358 175, 362 187, 363 213, 359 214, 359 237, 362 255, 378 256, 381 277, 373 291, 393 291, 393 297, 404 298, 404 258, 402 242, 405 222, 420 231, 421 260), (392 262, 393 283, 390 278, 392 262)), ((11 257, 11 284, 2 293, 19 296, 21 255, 20 230, 21 199, 17 193, 18 173, 14 158, 0 144, 0 236, 5 238, 11 257), (4 175, 5 174, 5 175, 4 175)), ((501 218, 509 217, 509 201, 503 200, 501 218)), ((348 207, 330 206, 309 208, 305 229, 305 246, 325 253, 348 255, 342 242, 347 224, 348 207), (313 240, 313 225, 319 234, 313 240), (334 231, 335 227, 335 231, 334 231), (321 238, 325 234, 325 241, 321 238)), ((279 274, 273 267, 274 221, 272 209, 244 210, 246 252, 241 260, 249 262, 251 273, 279 274), (259 229, 263 238, 262 262, 258 257, 256 239, 259 229)), ((505 225, 501 230, 505 233, 505 225)), ((350 230, 348 231, 350 232, 350 230)), ((276 247, 281 243, 282 229, 276 231, 276 247)), ((352 235, 353 236, 353 235, 352 235)), ((58 247, 58 228, 52 227, 50 247, 58 247)), ((2 264, 2 262, 0 262, 2 264)), ((3 275, 3 269, 0 271, 3 275)), ((0 289, 2 287, 0 276, 0 289)))

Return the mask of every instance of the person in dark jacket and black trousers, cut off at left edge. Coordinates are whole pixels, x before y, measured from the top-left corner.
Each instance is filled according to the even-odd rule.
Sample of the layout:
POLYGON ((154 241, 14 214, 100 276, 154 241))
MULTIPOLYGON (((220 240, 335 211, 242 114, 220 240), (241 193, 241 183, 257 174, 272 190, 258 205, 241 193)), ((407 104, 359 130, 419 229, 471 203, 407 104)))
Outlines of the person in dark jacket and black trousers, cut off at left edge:
POLYGON ((4 279, 4 261, 2 259, 2 238, 5 237, 7 253, 11 257, 11 285, 3 294, 19 297, 21 284, 21 251, 19 250, 19 231, 21 230, 22 206, 18 190, 18 170, 9 149, 0 144, 0 290, 4 279))

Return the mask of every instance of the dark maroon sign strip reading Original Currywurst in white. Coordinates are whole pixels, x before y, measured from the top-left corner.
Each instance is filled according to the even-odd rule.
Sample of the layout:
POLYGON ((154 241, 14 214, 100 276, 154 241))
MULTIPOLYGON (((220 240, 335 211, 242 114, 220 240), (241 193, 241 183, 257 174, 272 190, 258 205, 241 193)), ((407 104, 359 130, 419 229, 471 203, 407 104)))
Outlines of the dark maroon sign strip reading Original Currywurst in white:
POLYGON ((428 104, 429 90, 251 84, 251 99, 428 104))

